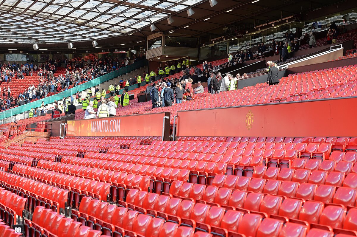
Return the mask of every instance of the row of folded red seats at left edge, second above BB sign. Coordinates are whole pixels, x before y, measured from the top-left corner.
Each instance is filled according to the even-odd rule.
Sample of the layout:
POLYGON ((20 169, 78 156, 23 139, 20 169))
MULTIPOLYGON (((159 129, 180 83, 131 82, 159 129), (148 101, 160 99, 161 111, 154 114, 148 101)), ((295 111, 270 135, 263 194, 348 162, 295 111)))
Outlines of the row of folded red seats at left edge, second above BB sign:
MULTIPOLYGON (((45 205, 55 211, 65 208, 68 199, 68 190, 56 188, 41 182, 36 182, 14 174, 0 171, 0 184, 12 190, 18 190, 28 196, 28 205, 34 208, 36 205, 45 205)), ((30 210, 32 211, 32 210, 30 210)))

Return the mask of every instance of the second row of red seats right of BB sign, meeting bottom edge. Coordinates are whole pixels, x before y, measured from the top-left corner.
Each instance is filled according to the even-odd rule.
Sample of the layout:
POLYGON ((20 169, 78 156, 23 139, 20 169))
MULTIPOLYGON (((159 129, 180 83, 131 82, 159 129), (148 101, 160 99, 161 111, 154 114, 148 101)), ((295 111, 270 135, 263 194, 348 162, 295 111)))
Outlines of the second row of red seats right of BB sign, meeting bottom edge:
POLYGON ((118 207, 105 202, 85 197, 82 199, 79 210, 72 210, 71 218, 82 224, 101 229, 104 234, 113 237, 211 237, 204 232, 194 233, 194 229, 179 226, 177 223, 165 222, 129 208, 118 207))

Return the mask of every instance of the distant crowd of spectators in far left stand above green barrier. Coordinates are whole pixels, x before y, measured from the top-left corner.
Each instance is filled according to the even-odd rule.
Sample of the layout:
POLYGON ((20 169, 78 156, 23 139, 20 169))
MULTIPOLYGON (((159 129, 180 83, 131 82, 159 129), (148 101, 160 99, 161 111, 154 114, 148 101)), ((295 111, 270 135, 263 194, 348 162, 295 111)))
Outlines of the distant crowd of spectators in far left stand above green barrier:
MULTIPOLYGON (((145 58, 145 55, 134 55, 134 62, 137 62, 145 58)), ((10 87, 0 87, 0 95, 3 98, 0 99, 0 111, 21 106, 29 103, 33 100, 39 100, 46 98, 49 93, 58 93, 66 91, 71 87, 77 86, 80 83, 84 83, 100 77, 106 73, 110 73, 125 67, 129 64, 130 58, 118 59, 117 57, 112 59, 110 57, 89 59, 84 61, 83 58, 62 61, 55 59, 53 61, 48 60, 45 63, 32 64, 32 62, 26 62, 25 64, 19 64, 9 62, 7 65, 2 65, 1 68, 1 82, 9 83, 11 78, 16 77, 23 79, 25 76, 38 76, 38 84, 29 85, 29 87, 21 92, 19 95, 11 93, 10 87), (57 67, 61 67, 64 63, 66 71, 64 74, 55 75, 57 67)), ((122 86, 121 88, 123 88, 122 86)))

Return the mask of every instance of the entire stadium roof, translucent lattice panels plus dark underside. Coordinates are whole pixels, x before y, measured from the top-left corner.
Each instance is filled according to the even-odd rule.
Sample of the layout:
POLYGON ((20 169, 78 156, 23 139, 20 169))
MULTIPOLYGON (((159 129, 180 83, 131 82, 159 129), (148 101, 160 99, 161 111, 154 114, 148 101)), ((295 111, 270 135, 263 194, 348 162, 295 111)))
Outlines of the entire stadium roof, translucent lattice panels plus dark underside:
POLYGON ((86 49, 96 40, 98 46, 120 48, 143 45, 160 32, 209 40, 224 35, 225 25, 251 29, 295 14, 304 22, 356 5, 355 0, 0 0, 0 44, 65 49, 74 43, 86 49), (194 14, 188 16, 190 8, 194 14))

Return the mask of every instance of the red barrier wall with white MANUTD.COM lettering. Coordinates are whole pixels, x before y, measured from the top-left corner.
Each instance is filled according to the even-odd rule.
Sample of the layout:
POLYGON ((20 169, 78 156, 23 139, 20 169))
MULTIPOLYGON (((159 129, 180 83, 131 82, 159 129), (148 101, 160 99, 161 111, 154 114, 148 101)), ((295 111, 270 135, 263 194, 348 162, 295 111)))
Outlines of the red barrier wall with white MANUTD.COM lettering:
MULTIPOLYGON (((170 113, 69 120, 66 136, 162 136, 164 116, 170 117, 170 113)), ((170 130, 170 119, 166 119, 165 130, 170 130)))

